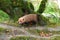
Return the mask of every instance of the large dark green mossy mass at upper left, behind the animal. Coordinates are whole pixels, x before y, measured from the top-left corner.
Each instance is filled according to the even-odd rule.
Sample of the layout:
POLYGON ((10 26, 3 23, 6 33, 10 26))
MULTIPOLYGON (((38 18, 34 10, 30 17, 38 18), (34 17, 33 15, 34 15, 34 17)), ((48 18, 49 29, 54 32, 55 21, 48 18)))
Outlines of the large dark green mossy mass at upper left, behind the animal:
POLYGON ((34 7, 30 2, 24 0, 1 0, 0 9, 6 12, 11 19, 17 21, 24 14, 32 13, 34 7))

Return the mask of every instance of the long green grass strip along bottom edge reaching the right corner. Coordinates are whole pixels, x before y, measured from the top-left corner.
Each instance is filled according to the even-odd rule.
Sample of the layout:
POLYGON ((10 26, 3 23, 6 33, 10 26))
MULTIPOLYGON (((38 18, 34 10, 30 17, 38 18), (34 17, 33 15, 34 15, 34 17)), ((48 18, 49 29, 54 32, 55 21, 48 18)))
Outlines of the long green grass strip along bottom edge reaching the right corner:
POLYGON ((60 36, 55 36, 55 37, 52 37, 52 38, 49 38, 49 39, 45 39, 45 38, 33 38, 33 37, 26 37, 26 36, 23 36, 23 37, 12 37, 10 40, 60 40, 60 36))

